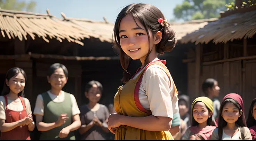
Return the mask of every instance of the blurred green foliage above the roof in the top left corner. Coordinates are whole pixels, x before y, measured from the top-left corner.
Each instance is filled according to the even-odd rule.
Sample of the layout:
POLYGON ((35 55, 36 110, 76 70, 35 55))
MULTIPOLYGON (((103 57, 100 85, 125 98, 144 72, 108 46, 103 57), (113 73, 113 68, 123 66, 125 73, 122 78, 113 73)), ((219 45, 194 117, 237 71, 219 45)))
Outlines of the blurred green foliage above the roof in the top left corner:
POLYGON ((24 0, 0 0, 1 9, 18 11, 35 11, 35 1, 25 2, 24 0))

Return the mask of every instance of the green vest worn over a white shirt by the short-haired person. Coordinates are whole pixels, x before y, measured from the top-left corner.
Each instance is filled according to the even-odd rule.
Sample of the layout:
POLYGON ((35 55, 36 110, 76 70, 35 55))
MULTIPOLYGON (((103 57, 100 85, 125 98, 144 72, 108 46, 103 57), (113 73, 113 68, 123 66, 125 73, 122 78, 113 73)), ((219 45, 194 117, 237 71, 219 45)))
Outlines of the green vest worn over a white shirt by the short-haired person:
POLYGON ((59 138, 59 132, 72 124, 72 102, 70 99, 70 93, 64 92, 65 99, 61 103, 56 103, 51 100, 49 94, 44 92, 41 94, 43 97, 44 104, 44 114, 43 121, 44 123, 54 123, 58 120, 59 115, 67 114, 69 119, 66 120, 66 123, 62 126, 53 128, 48 131, 42 131, 40 135, 40 140, 75 140, 74 131, 70 132, 66 138, 59 138))

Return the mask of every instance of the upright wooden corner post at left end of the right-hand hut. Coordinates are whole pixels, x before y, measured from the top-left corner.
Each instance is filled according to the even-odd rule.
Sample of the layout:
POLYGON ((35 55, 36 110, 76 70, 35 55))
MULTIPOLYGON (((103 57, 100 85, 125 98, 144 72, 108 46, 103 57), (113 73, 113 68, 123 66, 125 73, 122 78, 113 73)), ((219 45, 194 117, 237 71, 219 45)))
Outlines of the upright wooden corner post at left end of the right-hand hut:
POLYGON ((200 72, 202 61, 202 44, 195 46, 195 97, 199 97, 200 93, 200 72))

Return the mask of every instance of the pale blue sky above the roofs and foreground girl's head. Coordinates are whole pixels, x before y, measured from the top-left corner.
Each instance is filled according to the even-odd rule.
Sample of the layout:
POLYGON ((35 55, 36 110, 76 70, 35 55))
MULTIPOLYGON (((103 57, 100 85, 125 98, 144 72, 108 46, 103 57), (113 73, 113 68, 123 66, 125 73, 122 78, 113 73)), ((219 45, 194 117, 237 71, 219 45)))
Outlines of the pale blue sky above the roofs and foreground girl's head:
MULTIPOLYGON (((26 0, 30 1, 30 0, 26 0)), ((106 19, 114 23, 115 18, 124 6, 135 2, 150 3, 159 8, 167 19, 174 18, 173 9, 183 0, 34 0, 37 2, 36 11, 46 14, 46 9, 52 15, 62 17, 87 18, 92 20, 106 19)))

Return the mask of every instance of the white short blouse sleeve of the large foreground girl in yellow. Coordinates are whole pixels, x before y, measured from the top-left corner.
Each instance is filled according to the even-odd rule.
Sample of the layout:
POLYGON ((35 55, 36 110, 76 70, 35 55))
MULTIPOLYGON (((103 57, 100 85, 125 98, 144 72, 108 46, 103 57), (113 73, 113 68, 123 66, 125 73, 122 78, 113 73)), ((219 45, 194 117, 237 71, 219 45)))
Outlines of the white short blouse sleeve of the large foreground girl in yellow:
POLYGON ((173 118, 170 81, 165 71, 152 65, 143 78, 152 115, 173 118))

